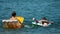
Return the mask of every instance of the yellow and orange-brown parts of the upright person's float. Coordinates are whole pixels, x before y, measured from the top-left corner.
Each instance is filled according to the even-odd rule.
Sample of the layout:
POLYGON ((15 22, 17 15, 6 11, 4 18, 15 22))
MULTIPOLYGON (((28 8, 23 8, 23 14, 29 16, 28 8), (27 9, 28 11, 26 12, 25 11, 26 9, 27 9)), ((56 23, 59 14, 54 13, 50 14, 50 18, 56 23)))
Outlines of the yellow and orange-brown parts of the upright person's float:
POLYGON ((19 25, 19 26, 16 26, 16 24, 15 23, 7 23, 7 22, 5 22, 5 28, 21 28, 22 26, 23 26, 23 22, 24 22, 24 17, 21 17, 21 16, 16 16, 16 19, 19 21, 19 23, 17 24, 17 25, 19 25, 19 24, 21 24, 21 25, 19 25))

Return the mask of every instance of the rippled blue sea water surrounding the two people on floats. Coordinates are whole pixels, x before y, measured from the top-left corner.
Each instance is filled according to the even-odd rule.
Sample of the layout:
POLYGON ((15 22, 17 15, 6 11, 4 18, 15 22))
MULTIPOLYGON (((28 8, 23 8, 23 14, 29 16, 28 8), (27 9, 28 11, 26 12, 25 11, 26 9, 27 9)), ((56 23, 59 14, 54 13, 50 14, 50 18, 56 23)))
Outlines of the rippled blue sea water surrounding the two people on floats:
POLYGON ((0 34, 60 34, 60 0, 0 0, 0 34), (29 28, 5 29, 3 19, 9 19, 12 11, 25 18, 29 28), (32 18, 47 17, 54 24, 48 27, 32 27, 32 18))

